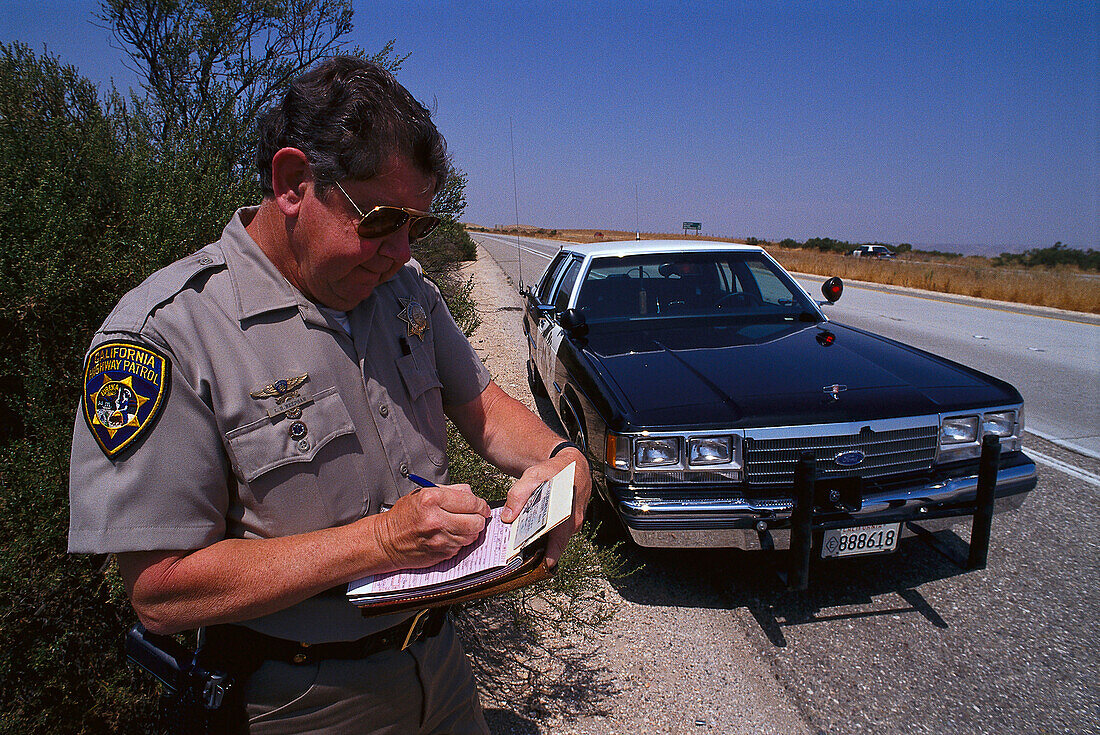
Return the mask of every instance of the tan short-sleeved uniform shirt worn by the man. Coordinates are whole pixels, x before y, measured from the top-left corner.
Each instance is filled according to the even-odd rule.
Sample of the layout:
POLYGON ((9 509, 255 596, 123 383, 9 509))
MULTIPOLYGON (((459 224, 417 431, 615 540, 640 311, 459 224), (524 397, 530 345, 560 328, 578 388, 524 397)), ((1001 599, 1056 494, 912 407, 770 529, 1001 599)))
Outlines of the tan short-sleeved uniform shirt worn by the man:
MULTIPOLYGON (((122 298, 92 341, 73 435, 69 551, 190 550, 378 513, 448 480, 443 405, 490 376, 410 263, 349 312, 351 334, 249 237, 221 239, 122 298)), ((365 619, 334 589, 246 623, 348 640, 365 619)))

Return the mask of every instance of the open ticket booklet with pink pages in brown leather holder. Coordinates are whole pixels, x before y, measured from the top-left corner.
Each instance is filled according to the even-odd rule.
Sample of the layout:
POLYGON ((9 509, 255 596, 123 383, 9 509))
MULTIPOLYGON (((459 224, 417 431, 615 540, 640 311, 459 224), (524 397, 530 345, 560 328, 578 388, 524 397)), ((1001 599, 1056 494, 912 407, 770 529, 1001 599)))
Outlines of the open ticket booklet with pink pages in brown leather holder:
POLYGON ((485 530, 453 558, 424 569, 372 574, 348 585, 364 615, 419 610, 498 594, 549 577, 544 536, 573 512, 571 463, 536 489, 519 516, 506 524, 493 508, 485 530))

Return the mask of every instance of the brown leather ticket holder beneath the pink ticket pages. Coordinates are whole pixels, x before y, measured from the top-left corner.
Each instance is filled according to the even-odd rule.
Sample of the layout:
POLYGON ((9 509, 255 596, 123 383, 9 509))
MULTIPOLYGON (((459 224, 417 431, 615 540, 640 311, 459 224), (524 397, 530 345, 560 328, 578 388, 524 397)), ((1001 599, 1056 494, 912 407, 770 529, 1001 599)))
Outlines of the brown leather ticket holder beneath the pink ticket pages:
POLYGON ((459 584, 452 589, 443 591, 432 591, 430 589, 417 592, 409 591, 409 594, 395 600, 384 600, 380 602, 358 603, 364 617, 374 615, 389 615, 392 613, 404 613, 427 607, 439 607, 441 605, 453 605, 459 602, 480 600, 490 597, 521 586, 534 584, 540 580, 553 575, 546 561, 546 539, 524 549, 522 563, 508 569, 502 567, 497 570, 479 574, 470 580, 469 584, 459 584))

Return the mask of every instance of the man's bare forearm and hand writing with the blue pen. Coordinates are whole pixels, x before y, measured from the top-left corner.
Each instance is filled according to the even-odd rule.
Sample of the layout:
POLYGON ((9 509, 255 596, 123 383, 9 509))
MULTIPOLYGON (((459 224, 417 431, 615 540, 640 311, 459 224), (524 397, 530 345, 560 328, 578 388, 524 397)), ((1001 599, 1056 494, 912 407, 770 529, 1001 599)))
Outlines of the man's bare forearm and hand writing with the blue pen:
POLYGON ((469 485, 431 487, 345 526, 121 553, 119 570, 146 627, 172 633, 260 617, 367 574, 430 567, 472 544, 488 517, 469 485))

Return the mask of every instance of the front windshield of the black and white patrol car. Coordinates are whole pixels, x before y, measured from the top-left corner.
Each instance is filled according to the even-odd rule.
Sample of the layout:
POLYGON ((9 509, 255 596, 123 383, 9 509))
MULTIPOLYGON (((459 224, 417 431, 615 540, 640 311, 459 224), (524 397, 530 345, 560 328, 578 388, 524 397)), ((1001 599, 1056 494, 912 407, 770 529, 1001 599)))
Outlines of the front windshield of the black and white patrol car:
POLYGON ((581 284, 576 308, 588 322, 817 315, 782 268, 761 253, 736 251, 595 259, 581 284))

